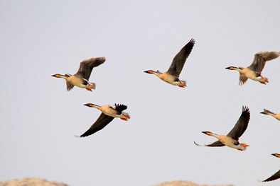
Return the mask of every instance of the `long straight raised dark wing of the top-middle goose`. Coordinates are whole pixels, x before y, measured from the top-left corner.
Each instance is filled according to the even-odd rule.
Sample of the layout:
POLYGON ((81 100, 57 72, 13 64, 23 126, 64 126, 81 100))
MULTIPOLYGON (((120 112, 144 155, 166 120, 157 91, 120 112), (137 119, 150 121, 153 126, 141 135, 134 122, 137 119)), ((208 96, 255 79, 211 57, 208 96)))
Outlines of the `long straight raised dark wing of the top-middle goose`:
POLYGON ((191 39, 187 45, 185 45, 178 54, 173 58, 173 62, 169 67, 167 73, 173 76, 179 77, 183 66, 185 64, 185 60, 188 58, 188 55, 193 50, 193 45, 195 45, 195 40, 191 39))

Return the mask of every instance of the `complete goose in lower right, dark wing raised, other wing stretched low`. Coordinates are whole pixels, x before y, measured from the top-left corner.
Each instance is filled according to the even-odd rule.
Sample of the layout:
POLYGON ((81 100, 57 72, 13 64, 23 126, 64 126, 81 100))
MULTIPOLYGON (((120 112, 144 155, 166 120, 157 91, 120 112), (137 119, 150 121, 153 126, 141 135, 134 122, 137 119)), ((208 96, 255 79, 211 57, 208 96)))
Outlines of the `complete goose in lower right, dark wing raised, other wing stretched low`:
MULTIPOLYGON (((212 144, 204 145, 204 146, 229 146, 233 149, 237 149, 239 151, 245 151, 246 147, 249 146, 247 144, 239 143, 239 137, 245 132, 248 127, 250 119, 250 112, 248 107, 242 107, 242 114, 239 117, 239 120, 235 124, 235 127, 227 135, 217 135, 212 132, 203 132, 208 136, 214 136, 218 139, 212 144)), ((195 141, 194 141, 195 143, 195 141)), ((200 144, 195 143, 195 145, 201 146, 200 144)))

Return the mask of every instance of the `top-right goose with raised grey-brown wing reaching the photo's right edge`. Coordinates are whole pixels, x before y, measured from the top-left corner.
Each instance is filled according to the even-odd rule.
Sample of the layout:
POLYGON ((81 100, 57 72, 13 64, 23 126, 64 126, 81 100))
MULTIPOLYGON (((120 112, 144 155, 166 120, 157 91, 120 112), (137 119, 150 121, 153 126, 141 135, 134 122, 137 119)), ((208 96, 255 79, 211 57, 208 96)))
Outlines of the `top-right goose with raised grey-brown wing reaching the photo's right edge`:
POLYGON ((270 61, 279 57, 280 52, 278 51, 266 51, 257 52, 254 54, 254 60, 250 66, 247 68, 229 66, 225 69, 239 71, 239 85, 242 86, 246 83, 247 79, 252 79, 254 81, 259 81, 259 83, 266 84, 269 83, 268 79, 262 76, 262 70, 266 61, 270 61))

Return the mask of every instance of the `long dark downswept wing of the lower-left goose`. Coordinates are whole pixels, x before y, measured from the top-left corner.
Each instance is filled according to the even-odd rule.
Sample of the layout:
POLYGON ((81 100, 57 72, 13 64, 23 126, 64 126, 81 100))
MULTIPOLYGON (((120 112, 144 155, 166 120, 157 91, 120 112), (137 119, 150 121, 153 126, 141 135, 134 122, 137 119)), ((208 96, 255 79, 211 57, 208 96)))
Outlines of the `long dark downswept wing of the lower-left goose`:
POLYGON ((84 134, 80 135, 80 137, 90 136, 91 134, 95 134, 95 132, 106 127, 109 122, 112 122, 114 117, 104 115, 103 113, 98 117, 94 124, 88 129, 84 134))

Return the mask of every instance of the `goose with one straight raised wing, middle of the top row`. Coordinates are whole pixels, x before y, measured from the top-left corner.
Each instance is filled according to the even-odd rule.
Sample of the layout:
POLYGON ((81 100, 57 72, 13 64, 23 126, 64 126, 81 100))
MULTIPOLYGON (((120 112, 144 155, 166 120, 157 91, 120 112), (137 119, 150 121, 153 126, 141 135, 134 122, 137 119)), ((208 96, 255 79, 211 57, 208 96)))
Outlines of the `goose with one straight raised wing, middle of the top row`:
POLYGON ((179 86, 179 87, 186 87, 186 81, 180 80, 179 75, 183 69, 183 66, 185 64, 185 60, 188 58, 188 55, 193 50, 193 45, 195 45, 195 40, 191 39, 187 45, 185 45, 178 54, 173 58, 173 62, 171 63, 171 66, 169 67, 168 71, 161 73, 160 71, 153 71, 148 70, 144 71, 148 74, 155 74, 158 76, 159 79, 162 81, 165 81, 166 83, 169 83, 173 86, 179 86))

